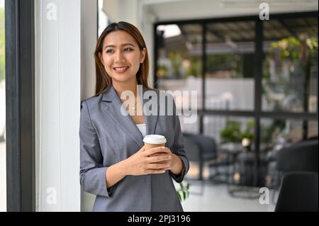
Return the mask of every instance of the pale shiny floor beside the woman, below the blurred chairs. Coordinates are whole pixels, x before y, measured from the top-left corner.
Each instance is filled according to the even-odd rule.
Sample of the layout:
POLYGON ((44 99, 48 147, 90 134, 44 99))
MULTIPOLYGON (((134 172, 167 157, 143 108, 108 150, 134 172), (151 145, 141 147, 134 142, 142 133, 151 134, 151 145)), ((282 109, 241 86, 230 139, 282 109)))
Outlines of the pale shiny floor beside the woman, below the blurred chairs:
MULTIPOLYGON (((209 178, 209 169, 207 166, 203 167, 203 178, 209 178)), ((252 194, 256 198, 234 198, 230 196, 228 185, 225 183, 201 183, 196 181, 198 179, 198 165, 190 162, 190 169, 187 173, 187 177, 183 183, 188 181, 191 186, 189 188, 189 198, 182 201, 181 204, 184 211, 194 212, 272 212, 274 211, 274 196, 273 191, 269 190, 269 204, 259 203, 259 197, 263 193, 259 193, 259 188, 247 188, 246 190, 252 190, 253 193, 244 191, 242 193, 236 193, 240 197, 252 194), (187 178, 189 180, 187 180, 187 178), (202 186, 203 184, 203 186, 202 186)), ((179 188, 179 184, 175 183, 176 188, 179 188)), ((234 187, 233 187, 234 188, 234 187)), ((242 190, 242 187, 239 187, 242 190)), ((245 190, 245 189, 244 189, 245 190)), ((264 196, 263 196, 264 197, 264 196)))

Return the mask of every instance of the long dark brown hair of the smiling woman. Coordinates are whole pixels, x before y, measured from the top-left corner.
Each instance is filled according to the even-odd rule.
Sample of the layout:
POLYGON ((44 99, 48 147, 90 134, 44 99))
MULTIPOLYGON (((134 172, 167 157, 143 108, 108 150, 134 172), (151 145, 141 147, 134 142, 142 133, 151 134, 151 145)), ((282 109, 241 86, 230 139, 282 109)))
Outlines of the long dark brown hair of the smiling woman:
POLYGON ((149 72, 149 59, 147 54, 147 48, 145 45, 145 41, 142 37, 142 34, 136 28, 133 26, 133 24, 127 23, 127 22, 118 22, 118 23, 111 23, 109 26, 103 30, 103 33, 101 34, 99 40, 97 40, 96 43, 96 49, 94 52, 94 59, 95 59, 95 70, 96 70, 96 89, 95 94, 99 95, 102 94, 104 91, 108 89, 109 86, 112 84, 111 77, 106 73, 106 70, 100 60, 99 53, 102 55, 103 50, 103 41, 104 38, 106 38, 106 35, 108 33, 111 33, 115 30, 124 30, 130 35, 133 36, 133 38, 136 40, 136 43, 138 43, 138 47, 142 51, 143 48, 146 50, 145 60, 140 64, 140 69, 138 69, 138 73, 136 74, 136 79, 138 81, 138 84, 147 87, 150 89, 150 86, 147 84, 147 76, 149 72))

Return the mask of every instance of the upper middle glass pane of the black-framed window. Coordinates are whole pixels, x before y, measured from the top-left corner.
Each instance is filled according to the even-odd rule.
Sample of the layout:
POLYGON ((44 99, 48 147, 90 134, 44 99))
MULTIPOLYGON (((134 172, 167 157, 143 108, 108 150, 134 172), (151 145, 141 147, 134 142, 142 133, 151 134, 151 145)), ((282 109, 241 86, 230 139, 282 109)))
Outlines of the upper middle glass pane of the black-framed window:
POLYGON ((207 25, 206 108, 254 110, 254 22, 207 25))

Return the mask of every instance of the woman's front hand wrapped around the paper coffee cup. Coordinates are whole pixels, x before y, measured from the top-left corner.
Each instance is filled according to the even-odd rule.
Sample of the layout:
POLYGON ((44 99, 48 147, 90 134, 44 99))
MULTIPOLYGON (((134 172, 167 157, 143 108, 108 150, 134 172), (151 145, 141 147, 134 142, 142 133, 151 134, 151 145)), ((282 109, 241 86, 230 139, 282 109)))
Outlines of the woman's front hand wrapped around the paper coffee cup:
POLYGON ((138 152, 124 160, 126 175, 162 174, 170 169, 167 163, 170 158, 166 150, 159 151, 157 148, 151 148, 145 151, 143 146, 138 152))

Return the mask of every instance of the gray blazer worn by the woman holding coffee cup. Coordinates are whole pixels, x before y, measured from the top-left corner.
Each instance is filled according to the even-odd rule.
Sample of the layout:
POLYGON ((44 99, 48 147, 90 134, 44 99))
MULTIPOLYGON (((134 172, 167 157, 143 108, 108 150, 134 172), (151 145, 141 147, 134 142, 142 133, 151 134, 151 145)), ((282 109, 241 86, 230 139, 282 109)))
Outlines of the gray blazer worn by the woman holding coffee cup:
MULTIPOLYGON (((143 94, 146 90, 144 87, 143 94)), ((159 91, 156 92, 159 94, 159 91)), ((143 104, 147 101, 143 100, 143 104)), ((183 211, 172 179, 177 182, 184 179, 189 170, 189 160, 184 151, 179 118, 175 114, 159 115, 161 104, 157 104, 157 115, 145 115, 147 135, 159 134, 167 138, 166 146, 184 164, 181 174, 166 171, 163 174, 125 176, 111 188, 106 188, 108 166, 127 159, 144 145, 142 134, 130 115, 121 114, 121 104, 113 86, 105 93, 82 102, 80 183, 84 191, 96 195, 93 210, 183 211)))

